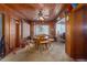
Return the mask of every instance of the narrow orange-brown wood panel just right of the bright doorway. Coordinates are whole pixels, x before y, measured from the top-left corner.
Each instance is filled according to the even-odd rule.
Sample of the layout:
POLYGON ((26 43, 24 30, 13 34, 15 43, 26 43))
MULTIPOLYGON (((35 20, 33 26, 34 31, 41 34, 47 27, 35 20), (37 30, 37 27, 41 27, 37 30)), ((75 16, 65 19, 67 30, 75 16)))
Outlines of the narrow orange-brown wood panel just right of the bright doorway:
POLYGON ((69 17, 69 20, 66 21, 66 53, 72 56, 74 55, 72 53, 72 47, 73 47, 73 21, 74 21, 74 18, 73 18, 74 13, 70 13, 68 17, 69 17))

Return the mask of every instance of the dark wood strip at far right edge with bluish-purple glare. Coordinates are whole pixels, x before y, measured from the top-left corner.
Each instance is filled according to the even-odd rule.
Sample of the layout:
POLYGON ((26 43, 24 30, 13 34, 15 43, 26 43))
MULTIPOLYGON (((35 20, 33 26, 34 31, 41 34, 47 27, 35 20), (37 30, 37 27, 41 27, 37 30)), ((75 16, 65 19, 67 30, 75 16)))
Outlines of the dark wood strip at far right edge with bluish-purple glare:
POLYGON ((84 44, 85 44, 85 48, 84 48, 84 55, 85 58, 87 58, 87 6, 84 7, 84 15, 83 15, 83 35, 84 35, 84 44))

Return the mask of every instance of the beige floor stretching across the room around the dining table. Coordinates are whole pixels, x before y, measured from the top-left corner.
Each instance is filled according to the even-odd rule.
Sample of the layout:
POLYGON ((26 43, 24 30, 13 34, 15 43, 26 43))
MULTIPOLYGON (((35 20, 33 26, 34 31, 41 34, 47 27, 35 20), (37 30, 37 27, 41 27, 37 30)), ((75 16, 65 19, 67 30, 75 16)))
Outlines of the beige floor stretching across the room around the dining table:
POLYGON ((72 62, 65 54, 65 43, 54 42, 48 51, 39 52, 32 48, 22 48, 17 54, 10 53, 1 62, 72 62))

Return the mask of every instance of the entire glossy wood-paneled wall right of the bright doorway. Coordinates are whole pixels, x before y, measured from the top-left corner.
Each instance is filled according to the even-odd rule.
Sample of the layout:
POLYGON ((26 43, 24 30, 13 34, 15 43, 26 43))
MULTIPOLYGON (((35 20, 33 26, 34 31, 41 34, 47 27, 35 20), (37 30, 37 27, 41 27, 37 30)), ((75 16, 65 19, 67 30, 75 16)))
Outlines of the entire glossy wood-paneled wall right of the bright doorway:
POLYGON ((87 58, 87 7, 72 11, 66 22, 66 53, 75 58, 87 58))

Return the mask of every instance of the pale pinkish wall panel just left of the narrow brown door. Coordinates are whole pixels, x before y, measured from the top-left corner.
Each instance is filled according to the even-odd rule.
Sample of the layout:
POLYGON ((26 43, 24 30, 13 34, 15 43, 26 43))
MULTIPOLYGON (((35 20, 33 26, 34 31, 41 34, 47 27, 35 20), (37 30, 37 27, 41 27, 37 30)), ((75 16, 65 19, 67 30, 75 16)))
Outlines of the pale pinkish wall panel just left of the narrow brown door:
POLYGON ((15 20, 10 18, 10 50, 15 47, 15 20))

